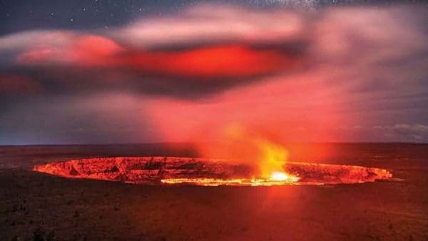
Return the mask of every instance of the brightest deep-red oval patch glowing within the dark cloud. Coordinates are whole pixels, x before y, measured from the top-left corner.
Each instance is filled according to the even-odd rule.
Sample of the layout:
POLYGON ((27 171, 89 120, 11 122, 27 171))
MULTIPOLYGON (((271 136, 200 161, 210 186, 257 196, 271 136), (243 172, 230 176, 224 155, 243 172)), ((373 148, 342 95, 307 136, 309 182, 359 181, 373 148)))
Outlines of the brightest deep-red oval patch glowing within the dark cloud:
POLYGON ((295 68, 297 61, 275 49, 258 50, 235 44, 185 51, 130 53, 126 64, 139 71, 161 76, 233 78, 260 76, 295 68))

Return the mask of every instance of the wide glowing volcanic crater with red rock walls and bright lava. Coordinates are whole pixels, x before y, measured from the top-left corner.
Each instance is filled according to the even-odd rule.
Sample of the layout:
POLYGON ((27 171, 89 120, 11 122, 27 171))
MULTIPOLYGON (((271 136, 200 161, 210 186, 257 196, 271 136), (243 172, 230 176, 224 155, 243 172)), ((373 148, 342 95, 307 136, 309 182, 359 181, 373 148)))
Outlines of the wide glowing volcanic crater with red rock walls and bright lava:
POLYGON ((266 178, 258 175, 257 168, 230 160, 141 157, 68 160, 36 165, 34 170, 65 178, 152 185, 322 185, 392 178, 387 170, 355 165, 288 162, 283 168, 283 172, 273 172, 266 178))

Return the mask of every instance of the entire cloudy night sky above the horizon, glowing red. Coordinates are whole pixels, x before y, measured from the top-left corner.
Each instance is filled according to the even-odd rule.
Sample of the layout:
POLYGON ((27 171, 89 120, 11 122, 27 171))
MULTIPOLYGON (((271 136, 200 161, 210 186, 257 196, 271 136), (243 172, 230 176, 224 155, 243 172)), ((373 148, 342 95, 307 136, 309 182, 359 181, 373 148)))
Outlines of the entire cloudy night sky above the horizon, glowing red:
POLYGON ((237 125, 427 143, 427 16, 426 1, 0 0, 0 145, 237 125))

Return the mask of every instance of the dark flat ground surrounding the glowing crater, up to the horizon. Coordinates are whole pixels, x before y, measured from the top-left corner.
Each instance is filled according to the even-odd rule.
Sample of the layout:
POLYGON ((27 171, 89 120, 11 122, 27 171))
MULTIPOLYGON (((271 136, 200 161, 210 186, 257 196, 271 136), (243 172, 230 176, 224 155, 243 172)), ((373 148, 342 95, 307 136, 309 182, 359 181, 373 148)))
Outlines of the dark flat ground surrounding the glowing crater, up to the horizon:
POLYGON ((0 147, 0 240, 428 240, 428 145, 290 145, 292 160, 390 170, 402 182, 150 186, 34 173, 88 157, 197 156, 188 144, 0 147))

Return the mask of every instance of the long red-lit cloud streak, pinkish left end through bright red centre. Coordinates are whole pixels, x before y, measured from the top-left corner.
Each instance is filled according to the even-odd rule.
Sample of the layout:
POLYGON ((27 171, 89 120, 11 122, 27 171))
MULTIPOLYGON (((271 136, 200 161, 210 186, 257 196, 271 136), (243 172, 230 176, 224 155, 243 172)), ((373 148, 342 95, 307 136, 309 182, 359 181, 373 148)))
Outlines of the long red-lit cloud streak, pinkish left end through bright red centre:
POLYGON ((253 48, 240 43, 180 51, 144 51, 96 35, 76 37, 65 48, 31 49, 21 53, 18 61, 25 65, 121 68, 166 78, 245 78, 295 68, 300 62, 275 47, 253 48))

